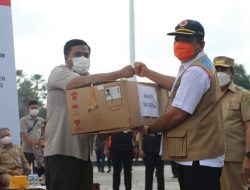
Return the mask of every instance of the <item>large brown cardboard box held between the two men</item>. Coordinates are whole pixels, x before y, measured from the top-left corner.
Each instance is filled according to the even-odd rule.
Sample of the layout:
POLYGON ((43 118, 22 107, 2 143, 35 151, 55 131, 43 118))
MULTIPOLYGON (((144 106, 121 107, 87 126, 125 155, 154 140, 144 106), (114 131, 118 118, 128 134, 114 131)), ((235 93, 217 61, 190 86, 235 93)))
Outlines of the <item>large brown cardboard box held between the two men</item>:
POLYGON ((72 134, 150 125, 167 105, 167 91, 153 83, 115 81, 67 90, 72 134))

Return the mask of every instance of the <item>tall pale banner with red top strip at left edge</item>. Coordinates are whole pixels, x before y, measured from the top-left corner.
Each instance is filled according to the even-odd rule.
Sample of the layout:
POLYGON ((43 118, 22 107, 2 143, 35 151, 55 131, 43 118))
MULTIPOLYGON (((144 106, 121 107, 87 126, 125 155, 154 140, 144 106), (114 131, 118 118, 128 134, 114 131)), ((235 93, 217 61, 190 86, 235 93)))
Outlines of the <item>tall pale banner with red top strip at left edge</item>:
POLYGON ((20 144, 16 69, 10 0, 0 0, 0 128, 20 144))

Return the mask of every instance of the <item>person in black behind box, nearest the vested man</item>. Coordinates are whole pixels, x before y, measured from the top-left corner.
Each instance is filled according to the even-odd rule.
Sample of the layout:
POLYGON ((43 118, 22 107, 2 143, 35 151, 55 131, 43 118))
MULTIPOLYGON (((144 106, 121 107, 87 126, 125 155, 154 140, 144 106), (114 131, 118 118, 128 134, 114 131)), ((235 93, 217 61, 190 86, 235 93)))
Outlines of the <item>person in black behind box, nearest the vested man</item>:
POLYGON ((164 190, 164 162, 160 155, 161 133, 139 134, 139 156, 145 164, 145 190, 153 189, 153 176, 156 170, 157 189, 164 190))

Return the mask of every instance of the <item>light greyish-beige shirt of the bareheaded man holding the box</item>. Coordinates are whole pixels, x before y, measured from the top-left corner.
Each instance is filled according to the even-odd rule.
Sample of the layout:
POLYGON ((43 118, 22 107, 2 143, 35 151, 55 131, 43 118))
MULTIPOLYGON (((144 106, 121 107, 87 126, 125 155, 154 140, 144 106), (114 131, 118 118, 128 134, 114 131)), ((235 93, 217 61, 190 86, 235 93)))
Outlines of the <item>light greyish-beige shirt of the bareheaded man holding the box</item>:
POLYGON ((72 135, 69 125, 66 88, 78 76, 65 65, 55 67, 49 76, 44 156, 59 154, 82 160, 92 156, 95 135, 72 135))

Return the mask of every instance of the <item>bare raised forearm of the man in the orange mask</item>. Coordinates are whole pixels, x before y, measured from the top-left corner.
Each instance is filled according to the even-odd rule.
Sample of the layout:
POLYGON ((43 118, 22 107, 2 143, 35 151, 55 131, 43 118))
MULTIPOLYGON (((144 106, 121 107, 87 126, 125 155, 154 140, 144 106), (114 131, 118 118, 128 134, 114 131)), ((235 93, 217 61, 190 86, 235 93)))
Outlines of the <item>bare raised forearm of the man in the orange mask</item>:
POLYGON ((149 70, 147 72, 147 78, 161 85, 163 88, 170 91, 173 87, 175 77, 163 75, 161 73, 149 70))

